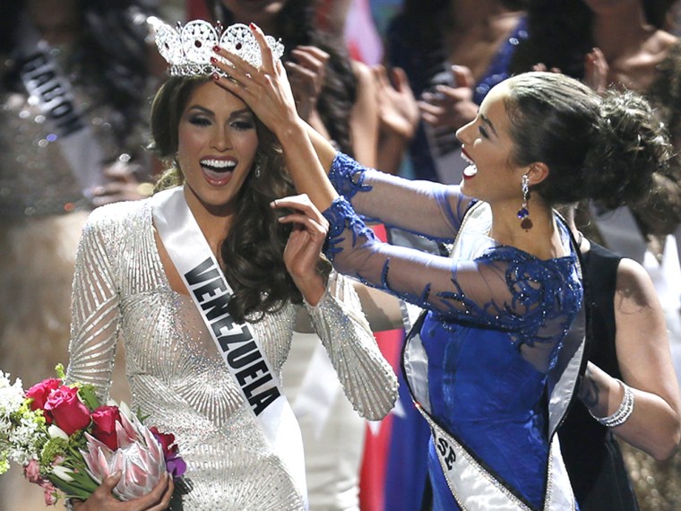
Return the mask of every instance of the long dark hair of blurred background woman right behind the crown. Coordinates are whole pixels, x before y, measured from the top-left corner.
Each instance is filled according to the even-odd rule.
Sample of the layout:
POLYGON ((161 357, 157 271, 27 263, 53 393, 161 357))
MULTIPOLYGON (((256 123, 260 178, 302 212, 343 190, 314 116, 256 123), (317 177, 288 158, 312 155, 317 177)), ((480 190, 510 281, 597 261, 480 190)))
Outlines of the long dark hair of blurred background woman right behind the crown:
MULTIPOLYGON (((206 0, 206 4, 215 20, 224 25, 237 22, 220 0, 206 0)), ((270 35, 280 38, 284 44, 284 61, 290 59, 290 51, 297 46, 315 46, 329 54, 317 108, 323 125, 340 151, 352 155, 349 117, 357 99, 358 82, 344 42, 316 27, 314 0, 289 0, 281 8, 276 26, 277 31, 270 35)))

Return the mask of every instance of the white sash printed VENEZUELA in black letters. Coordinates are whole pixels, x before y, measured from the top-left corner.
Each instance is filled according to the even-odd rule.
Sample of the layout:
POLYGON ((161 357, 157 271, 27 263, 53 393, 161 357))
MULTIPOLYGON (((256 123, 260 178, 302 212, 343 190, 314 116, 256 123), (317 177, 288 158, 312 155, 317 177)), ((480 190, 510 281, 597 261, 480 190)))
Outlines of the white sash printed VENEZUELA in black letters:
POLYGON ((246 406, 306 503, 305 458, 296 417, 254 329, 237 323, 227 311, 232 290, 186 204, 184 187, 153 195, 151 209, 163 246, 185 281, 246 406))

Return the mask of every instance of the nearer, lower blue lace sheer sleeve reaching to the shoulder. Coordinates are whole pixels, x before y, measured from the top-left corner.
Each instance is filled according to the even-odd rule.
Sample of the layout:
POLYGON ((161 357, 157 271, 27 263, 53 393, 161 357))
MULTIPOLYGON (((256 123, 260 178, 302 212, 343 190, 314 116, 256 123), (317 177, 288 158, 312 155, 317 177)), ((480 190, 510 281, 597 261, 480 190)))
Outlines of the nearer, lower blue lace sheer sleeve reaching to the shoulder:
POLYGON ((491 246, 456 261, 381 242, 342 197, 323 214, 331 223, 326 253, 340 273, 444 321, 494 327, 531 345, 559 338, 581 307, 573 255, 543 261, 514 247, 491 246))

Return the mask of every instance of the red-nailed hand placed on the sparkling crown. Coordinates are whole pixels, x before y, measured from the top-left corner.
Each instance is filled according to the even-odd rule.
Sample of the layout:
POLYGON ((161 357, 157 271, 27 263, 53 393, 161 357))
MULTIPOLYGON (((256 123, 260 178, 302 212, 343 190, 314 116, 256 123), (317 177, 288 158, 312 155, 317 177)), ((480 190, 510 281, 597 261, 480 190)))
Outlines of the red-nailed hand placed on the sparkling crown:
POLYGON ((216 47, 216 56, 228 63, 213 57, 211 64, 228 74, 229 78, 216 73, 213 74, 213 80, 241 98, 281 140, 289 133, 289 126, 297 125, 302 120, 297 115, 296 101, 284 66, 280 60, 275 61, 263 31, 254 24, 251 24, 251 30, 260 46, 263 58, 261 67, 254 67, 226 48, 216 47))

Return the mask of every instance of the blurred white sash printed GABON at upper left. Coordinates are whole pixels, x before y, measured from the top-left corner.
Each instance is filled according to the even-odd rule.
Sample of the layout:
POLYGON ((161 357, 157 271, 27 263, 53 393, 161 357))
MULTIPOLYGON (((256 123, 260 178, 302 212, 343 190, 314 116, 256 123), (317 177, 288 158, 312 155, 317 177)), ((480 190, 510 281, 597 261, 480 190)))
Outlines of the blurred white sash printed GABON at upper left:
POLYGON ((91 189, 103 184, 104 155, 88 123, 82 119, 73 97, 71 82, 52 55, 47 41, 23 14, 18 32, 17 60, 26 91, 38 101, 47 128, 56 135, 59 148, 68 161, 82 194, 91 198, 91 189))

